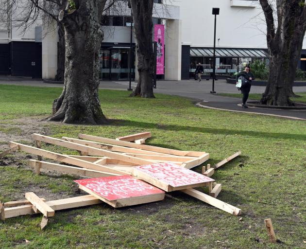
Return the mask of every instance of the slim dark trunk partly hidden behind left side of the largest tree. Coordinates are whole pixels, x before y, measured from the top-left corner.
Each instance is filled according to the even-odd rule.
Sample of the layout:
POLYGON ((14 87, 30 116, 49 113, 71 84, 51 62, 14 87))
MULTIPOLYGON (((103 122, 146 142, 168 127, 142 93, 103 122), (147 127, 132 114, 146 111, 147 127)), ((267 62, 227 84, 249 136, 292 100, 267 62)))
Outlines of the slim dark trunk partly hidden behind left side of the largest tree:
POLYGON ((57 43, 57 71, 55 80, 64 81, 65 73, 65 31, 64 26, 58 25, 58 43, 57 43))

